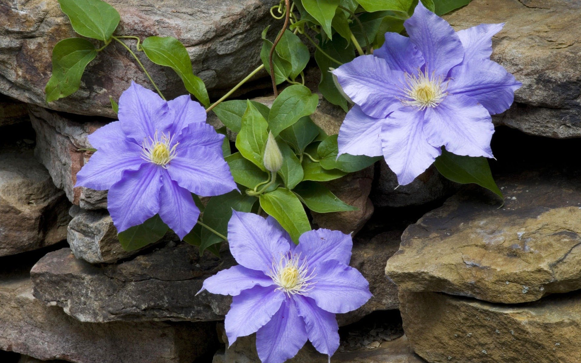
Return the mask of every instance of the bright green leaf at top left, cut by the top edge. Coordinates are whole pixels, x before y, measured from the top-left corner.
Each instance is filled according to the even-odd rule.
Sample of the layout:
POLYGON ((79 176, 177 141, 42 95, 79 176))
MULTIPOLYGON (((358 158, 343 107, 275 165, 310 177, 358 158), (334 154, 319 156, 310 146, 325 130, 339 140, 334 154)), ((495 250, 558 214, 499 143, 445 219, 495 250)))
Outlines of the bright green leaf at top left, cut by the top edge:
POLYGON ((60 9, 74 31, 84 37, 108 41, 119 24, 119 13, 101 0, 59 0, 60 9))

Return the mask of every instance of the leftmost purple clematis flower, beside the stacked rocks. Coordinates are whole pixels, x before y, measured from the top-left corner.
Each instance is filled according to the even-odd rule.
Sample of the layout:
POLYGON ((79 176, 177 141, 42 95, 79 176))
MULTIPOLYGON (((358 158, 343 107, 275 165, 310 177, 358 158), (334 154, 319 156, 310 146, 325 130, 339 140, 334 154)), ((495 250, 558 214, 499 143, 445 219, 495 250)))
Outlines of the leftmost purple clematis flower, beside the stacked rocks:
POLYGON ((77 173, 76 186, 106 190, 117 231, 156 214, 184 238, 200 211, 192 194, 221 195, 236 188, 206 111, 189 95, 164 101, 131 82, 119 99, 119 121, 88 136, 98 151, 77 173))

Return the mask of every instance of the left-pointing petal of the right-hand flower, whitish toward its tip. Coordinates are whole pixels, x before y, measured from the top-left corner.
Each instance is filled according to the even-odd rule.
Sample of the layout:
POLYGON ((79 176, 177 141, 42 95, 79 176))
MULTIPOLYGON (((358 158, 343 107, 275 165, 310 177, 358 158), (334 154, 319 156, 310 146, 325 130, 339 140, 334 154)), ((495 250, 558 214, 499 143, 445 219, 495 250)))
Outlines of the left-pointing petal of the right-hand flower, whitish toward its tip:
POLYGON ((401 105, 403 72, 373 55, 358 56, 333 71, 343 91, 372 117, 385 117, 401 105))

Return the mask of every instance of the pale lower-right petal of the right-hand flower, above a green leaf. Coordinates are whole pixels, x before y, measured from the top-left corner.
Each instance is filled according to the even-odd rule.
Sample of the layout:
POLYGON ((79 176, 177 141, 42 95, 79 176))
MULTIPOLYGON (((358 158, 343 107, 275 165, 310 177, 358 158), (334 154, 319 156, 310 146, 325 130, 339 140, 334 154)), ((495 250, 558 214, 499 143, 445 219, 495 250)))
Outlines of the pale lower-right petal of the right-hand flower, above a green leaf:
POLYGON ((436 107, 428 107, 424 132, 428 142, 458 155, 492 156, 490 139, 494 125, 490 114, 474 98, 448 95, 436 107))

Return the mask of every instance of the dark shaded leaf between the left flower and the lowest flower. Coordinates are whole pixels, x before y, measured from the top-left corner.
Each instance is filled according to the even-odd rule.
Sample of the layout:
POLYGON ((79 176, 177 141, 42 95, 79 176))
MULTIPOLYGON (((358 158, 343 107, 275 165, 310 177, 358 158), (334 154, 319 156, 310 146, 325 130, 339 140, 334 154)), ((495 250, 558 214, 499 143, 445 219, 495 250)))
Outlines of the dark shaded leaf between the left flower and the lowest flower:
MULTIPOLYGON (((218 233, 228 235, 228 221, 232 217, 232 209, 239 212, 250 212, 256 197, 241 195, 238 191, 231 191, 229 193, 213 196, 206 205, 206 210, 203 214, 203 222, 210 228, 213 228, 218 233)), ((211 245, 222 242, 223 239, 210 232, 209 229, 202 227, 200 235, 200 253, 211 245)))

